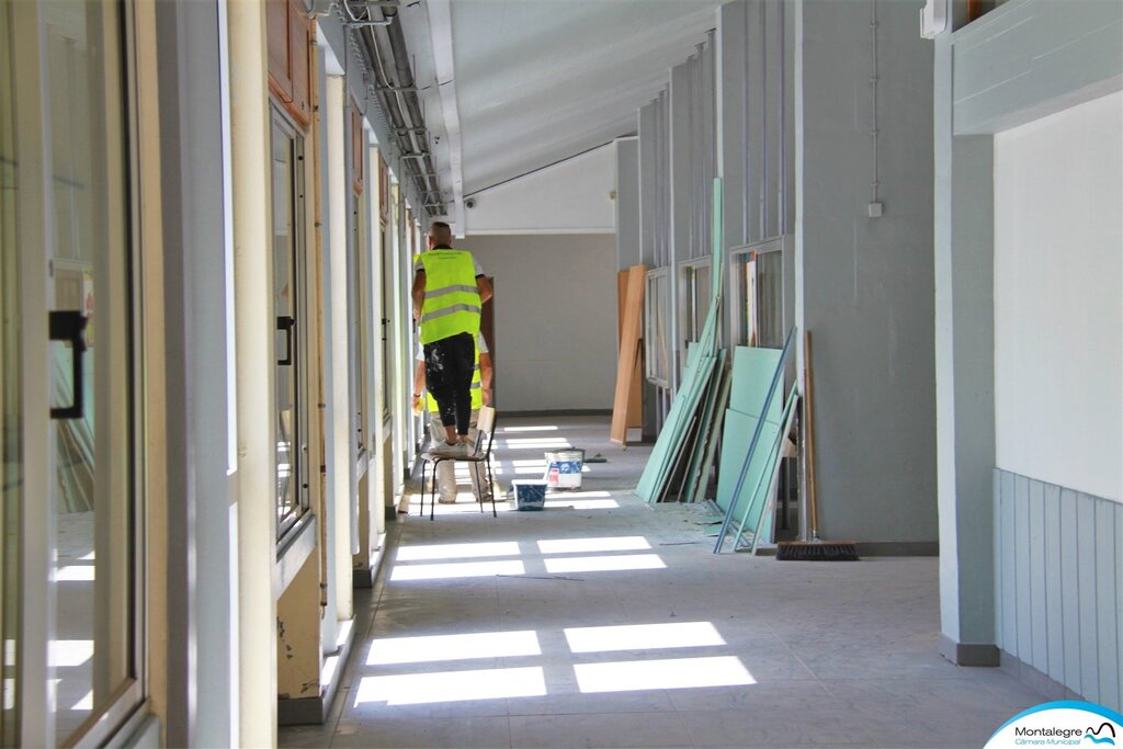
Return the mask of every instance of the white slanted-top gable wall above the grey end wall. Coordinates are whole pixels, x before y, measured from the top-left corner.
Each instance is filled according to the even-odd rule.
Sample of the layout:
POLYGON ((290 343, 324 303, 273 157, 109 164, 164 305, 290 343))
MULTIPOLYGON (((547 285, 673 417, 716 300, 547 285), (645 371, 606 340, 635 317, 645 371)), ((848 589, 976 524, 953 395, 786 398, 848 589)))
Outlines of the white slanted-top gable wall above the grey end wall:
POLYGON ((613 144, 473 193, 467 235, 601 234, 615 227, 613 144))

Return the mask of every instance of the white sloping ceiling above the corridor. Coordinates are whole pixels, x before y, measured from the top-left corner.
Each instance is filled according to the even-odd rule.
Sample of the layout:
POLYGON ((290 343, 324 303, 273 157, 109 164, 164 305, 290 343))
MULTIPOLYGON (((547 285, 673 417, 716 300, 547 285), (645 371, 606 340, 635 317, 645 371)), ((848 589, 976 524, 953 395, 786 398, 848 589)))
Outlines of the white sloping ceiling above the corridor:
POLYGON ((433 134, 430 148, 446 200, 455 203, 457 198, 633 134, 636 110, 658 94, 673 65, 694 54, 695 45, 713 28, 720 4, 719 0, 405 4, 400 11, 402 28, 414 56, 414 79, 433 134))

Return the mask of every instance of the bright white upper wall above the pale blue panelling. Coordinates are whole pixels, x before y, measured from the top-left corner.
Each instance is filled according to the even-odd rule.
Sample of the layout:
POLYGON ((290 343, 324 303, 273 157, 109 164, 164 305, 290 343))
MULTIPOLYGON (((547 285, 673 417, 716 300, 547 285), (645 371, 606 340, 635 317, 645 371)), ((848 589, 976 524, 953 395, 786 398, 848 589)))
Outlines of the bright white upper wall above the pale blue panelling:
POLYGON ((1123 501, 1123 93, 995 136, 999 468, 1123 501))

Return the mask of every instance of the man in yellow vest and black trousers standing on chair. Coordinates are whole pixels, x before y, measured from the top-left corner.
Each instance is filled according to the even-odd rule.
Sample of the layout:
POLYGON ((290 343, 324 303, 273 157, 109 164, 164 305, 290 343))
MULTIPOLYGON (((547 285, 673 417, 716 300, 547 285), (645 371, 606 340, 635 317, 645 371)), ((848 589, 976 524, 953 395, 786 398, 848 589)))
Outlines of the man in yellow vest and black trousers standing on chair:
POLYGON ((426 383, 437 401, 445 444, 435 451, 471 451, 472 372, 475 368, 480 313, 492 289, 483 268, 464 249, 453 249, 453 230, 444 221, 429 227, 427 245, 413 262, 413 318, 421 323, 426 383))

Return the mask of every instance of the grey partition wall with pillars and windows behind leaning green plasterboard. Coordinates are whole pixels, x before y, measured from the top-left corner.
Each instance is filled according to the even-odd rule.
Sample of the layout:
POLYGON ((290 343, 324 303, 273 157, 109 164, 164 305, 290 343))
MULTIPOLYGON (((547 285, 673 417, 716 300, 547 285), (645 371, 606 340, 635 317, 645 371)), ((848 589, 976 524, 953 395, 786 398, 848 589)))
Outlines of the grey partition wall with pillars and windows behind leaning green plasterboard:
POLYGON ((618 186, 638 184, 638 205, 618 198, 618 244, 650 268, 646 429, 661 424, 699 326, 722 176, 721 340, 779 348, 793 326, 814 330, 821 532, 867 552, 937 550, 932 43, 917 34, 920 6, 727 3, 639 109, 636 158, 630 141, 617 146, 618 166, 636 170, 618 186))

